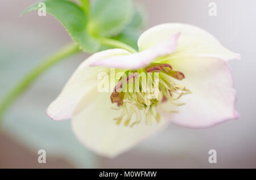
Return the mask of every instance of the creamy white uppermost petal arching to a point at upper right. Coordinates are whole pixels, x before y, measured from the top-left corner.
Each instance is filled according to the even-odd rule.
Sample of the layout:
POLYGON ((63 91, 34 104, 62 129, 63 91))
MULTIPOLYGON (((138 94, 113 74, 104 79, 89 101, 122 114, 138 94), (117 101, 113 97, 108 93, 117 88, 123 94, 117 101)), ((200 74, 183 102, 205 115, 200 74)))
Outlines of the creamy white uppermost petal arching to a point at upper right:
POLYGON ((191 56, 216 57, 224 60, 240 59, 240 54, 224 48, 210 33, 189 24, 160 24, 148 29, 138 40, 140 51, 150 49, 158 42, 180 32, 177 50, 172 56, 183 58, 191 56))

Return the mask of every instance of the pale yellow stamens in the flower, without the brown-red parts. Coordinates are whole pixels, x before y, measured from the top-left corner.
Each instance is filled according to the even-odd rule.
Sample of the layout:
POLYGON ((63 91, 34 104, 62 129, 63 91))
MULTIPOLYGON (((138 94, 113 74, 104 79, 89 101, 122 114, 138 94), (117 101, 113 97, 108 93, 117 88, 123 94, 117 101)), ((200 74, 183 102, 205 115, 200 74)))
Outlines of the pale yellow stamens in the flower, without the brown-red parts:
MULTIPOLYGON (((176 84, 174 78, 170 76, 170 73, 168 74, 162 71, 158 73, 157 87, 155 87, 155 79, 152 80, 152 75, 147 74, 147 76, 150 76, 151 84, 146 83, 146 88, 143 87, 140 79, 137 79, 139 81, 139 89, 146 89, 145 91, 121 92, 123 93, 122 106, 113 108, 121 110, 121 115, 114 118, 117 125, 124 121, 125 126, 133 127, 141 122, 142 115, 146 117, 147 125, 152 125, 153 121, 160 122, 158 106, 164 103, 164 100, 168 100, 174 105, 184 105, 184 103, 176 103, 175 100, 178 100, 183 95, 191 93, 191 91, 182 85, 176 84)), ((134 81, 133 84, 135 83, 136 81, 134 81)), ((169 113, 175 113, 175 111, 170 111, 169 113)))

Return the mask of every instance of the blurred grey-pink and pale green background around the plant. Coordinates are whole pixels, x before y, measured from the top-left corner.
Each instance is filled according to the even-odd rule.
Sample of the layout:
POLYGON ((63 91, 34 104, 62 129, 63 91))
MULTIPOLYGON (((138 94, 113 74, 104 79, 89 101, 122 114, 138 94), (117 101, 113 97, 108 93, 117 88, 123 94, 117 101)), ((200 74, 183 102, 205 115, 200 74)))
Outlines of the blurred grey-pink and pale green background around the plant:
MULTIPOLYGON (((20 17, 36 0, 2 0, 0 6, 0 100, 20 78, 47 55, 71 41, 52 16, 31 12, 20 17)), ((83 147, 69 121, 55 122, 46 115, 49 103, 86 54, 52 67, 19 98, 2 119, 0 168, 256 168, 256 24, 254 0, 137 0, 147 11, 146 28, 161 23, 189 23, 212 33, 221 44, 240 53, 231 61, 241 117, 207 129, 171 125, 166 131, 109 159, 83 147), (209 16, 209 3, 217 16, 209 16), (47 163, 38 163, 45 149, 47 163), (208 151, 216 149, 217 163, 208 151)))

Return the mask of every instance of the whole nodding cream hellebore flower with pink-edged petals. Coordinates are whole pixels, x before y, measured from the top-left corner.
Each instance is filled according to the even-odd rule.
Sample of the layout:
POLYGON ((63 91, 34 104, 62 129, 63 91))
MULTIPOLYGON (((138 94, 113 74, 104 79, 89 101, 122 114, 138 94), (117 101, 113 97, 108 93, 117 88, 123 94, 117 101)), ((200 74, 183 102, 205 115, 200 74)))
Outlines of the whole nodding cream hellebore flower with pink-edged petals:
MULTIPOLYGON (((108 157, 127 151, 170 123, 204 128, 238 117, 226 61, 240 55, 225 49, 208 32, 187 24, 161 24, 144 32, 138 47, 135 54, 110 49, 82 62, 49 105, 49 117, 71 118, 82 144, 108 157), (111 68, 125 73, 159 72, 158 93, 115 91, 122 86, 120 79, 113 92, 98 92, 98 74, 110 74, 111 68)), ((127 84, 136 78, 128 76, 132 81, 127 84)))

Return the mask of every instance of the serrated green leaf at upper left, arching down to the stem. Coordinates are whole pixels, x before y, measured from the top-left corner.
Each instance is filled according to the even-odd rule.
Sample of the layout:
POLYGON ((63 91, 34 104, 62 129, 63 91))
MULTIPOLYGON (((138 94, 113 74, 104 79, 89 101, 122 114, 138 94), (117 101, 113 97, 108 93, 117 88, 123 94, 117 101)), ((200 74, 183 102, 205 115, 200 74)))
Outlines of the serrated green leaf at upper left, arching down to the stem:
MULTIPOLYGON (((100 43, 92 37, 87 31, 88 17, 81 7, 76 3, 65 0, 48 0, 46 3, 46 12, 54 16, 67 29, 69 35, 80 46, 82 50, 88 53, 97 52, 100 49, 100 43)), ((28 7, 22 14, 39 10, 39 3, 28 7)))

